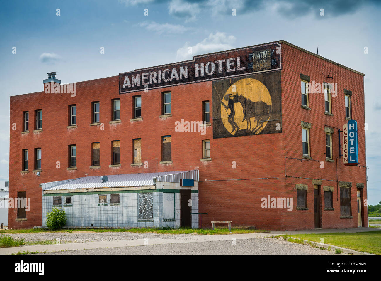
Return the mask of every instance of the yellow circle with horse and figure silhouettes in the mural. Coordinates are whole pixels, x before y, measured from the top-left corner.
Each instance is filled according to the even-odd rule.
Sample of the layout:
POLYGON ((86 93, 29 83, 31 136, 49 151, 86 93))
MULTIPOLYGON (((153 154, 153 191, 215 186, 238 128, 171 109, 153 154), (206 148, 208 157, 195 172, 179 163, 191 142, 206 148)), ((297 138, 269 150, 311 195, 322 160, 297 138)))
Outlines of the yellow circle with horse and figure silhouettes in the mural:
POLYGON ((221 100, 221 120, 232 135, 259 134, 270 120, 269 90, 253 78, 232 84, 221 100))

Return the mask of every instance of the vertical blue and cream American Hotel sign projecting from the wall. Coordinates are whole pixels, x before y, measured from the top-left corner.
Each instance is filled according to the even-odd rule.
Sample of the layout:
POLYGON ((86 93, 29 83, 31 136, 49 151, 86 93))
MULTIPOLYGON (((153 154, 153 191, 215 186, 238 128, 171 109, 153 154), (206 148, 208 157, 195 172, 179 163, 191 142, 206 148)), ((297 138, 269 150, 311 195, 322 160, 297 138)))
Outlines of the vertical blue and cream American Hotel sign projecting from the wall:
POLYGON ((359 164, 356 120, 348 120, 348 123, 343 126, 343 150, 344 165, 354 166, 359 164))

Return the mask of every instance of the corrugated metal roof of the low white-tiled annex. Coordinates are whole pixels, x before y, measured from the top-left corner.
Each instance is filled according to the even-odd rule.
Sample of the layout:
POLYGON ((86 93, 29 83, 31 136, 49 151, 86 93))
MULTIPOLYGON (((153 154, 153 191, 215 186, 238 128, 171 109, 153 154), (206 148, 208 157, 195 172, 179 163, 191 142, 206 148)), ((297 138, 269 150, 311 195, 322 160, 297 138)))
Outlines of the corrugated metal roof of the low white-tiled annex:
POLYGON ((63 189, 93 189, 103 187, 131 187, 131 186, 154 186, 157 181, 180 182, 180 178, 199 180, 199 170, 140 173, 140 174, 114 174, 107 175, 108 181, 103 182, 100 176, 87 176, 83 178, 67 179, 41 183, 43 190, 63 189))

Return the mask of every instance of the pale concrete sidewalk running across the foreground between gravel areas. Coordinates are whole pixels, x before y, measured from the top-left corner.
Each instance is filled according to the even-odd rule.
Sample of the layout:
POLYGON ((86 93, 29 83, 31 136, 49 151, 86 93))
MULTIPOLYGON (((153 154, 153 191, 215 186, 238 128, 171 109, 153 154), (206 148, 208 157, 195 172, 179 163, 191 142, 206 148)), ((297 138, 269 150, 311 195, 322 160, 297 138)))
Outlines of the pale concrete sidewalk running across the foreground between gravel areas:
MULTIPOLYGON (((355 233, 364 231, 381 231, 381 228, 351 228, 351 229, 316 229, 306 231, 271 231, 269 233, 246 233, 246 234, 228 234, 228 235, 195 235, 192 237, 187 236, 186 239, 162 239, 162 238, 144 238, 144 233, 141 234, 142 239, 132 240, 114 240, 114 241, 97 241, 97 242, 84 242, 84 243, 66 243, 66 244, 53 244, 53 245, 26 245, 21 247, 1 248, 0 255, 10 255, 12 253, 21 252, 58 252, 70 250, 86 250, 96 248, 114 248, 114 247, 132 247, 143 245, 157 245, 157 244, 177 244, 177 243, 190 243, 190 242, 207 242, 207 241, 230 241, 235 239, 253 239, 260 237, 271 237, 287 233, 293 234, 308 234, 308 233, 355 233)), ((356 252, 348 250, 348 252, 356 252)), ((357 252, 358 253, 358 252, 357 252)))

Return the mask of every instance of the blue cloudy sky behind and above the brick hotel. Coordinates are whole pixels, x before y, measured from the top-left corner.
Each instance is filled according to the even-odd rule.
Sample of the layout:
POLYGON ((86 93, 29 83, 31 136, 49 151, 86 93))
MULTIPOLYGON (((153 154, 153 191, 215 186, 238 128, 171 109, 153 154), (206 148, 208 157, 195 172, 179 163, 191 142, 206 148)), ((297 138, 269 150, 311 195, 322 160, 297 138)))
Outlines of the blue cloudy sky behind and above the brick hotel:
POLYGON ((0 187, 9 173, 9 97, 43 90, 47 72, 71 83, 283 39, 365 73, 368 199, 378 203, 380 13, 377 1, 363 0, 2 2, 0 187))

